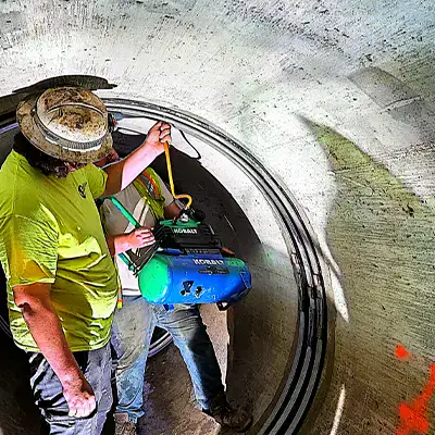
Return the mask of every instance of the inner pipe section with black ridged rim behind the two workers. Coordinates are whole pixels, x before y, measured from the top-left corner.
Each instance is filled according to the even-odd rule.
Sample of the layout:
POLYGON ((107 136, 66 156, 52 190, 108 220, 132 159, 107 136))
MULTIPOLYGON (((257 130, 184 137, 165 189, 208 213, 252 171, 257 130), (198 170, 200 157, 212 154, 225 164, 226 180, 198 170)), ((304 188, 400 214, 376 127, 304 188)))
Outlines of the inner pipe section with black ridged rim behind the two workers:
MULTIPOLYGON (((249 263, 253 275, 252 293, 228 312, 201 307, 227 395, 253 412, 251 433, 274 427, 279 407, 291 412, 285 424, 298 427, 319 382, 326 333, 319 259, 300 211, 276 191, 273 177, 252 156, 211 124, 152 103, 107 99, 107 104, 125 117, 114 134, 121 156, 142 142, 156 120, 174 125, 177 190, 194 196, 195 207, 207 212, 223 244, 249 263)), ((4 158, 16 124, 5 122, 0 132, 4 158)), ((152 166, 166 181, 164 158, 152 166)), ((159 340, 169 341, 160 332, 152 353, 164 347, 159 340)), ((175 349, 150 360, 147 373, 147 418, 139 434, 220 433, 195 409, 188 372, 175 349)))

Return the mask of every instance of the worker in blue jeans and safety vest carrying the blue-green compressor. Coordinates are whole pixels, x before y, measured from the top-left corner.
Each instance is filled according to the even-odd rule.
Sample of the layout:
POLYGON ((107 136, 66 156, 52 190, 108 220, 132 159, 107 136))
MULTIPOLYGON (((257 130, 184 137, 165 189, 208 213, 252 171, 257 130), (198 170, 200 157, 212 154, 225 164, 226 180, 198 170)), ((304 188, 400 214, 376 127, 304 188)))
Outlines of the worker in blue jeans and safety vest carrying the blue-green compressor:
MULTIPOLYGON (((113 150, 98 165, 117 161, 113 150)), ((109 166, 110 167, 110 166, 109 166)), ((147 169, 115 198, 139 222, 135 229, 110 201, 102 206, 108 246, 116 256, 123 304, 115 310, 112 325, 112 346, 116 352, 115 435, 136 434, 137 420, 144 415, 142 388, 148 350, 156 326, 166 330, 178 347, 189 371, 197 401, 202 410, 223 426, 244 432, 251 415, 231 408, 222 385, 221 370, 213 345, 202 323, 199 307, 177 304, 167 311, 164 306, 146 301, 138 279, 117 256, 124 251, 150 246, 150 231, 158 221, 178 216, 181 209, 159 175, 147 169)))

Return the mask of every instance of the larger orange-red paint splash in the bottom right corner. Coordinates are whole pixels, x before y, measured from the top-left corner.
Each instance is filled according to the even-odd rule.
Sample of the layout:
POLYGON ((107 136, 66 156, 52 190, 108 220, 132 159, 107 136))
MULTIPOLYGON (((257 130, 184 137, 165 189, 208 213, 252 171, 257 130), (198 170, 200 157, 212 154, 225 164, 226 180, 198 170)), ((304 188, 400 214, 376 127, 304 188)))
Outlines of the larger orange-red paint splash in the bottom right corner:
POLYGON ((427 434, 430 424, 426 414, 434 393, 435 364, 432 364, 427 384, 424 386, 422 393, 410 403, 400 403, 400 427, 397 430, 396 435, 411 435, 415 432, 419 434, 427 434))

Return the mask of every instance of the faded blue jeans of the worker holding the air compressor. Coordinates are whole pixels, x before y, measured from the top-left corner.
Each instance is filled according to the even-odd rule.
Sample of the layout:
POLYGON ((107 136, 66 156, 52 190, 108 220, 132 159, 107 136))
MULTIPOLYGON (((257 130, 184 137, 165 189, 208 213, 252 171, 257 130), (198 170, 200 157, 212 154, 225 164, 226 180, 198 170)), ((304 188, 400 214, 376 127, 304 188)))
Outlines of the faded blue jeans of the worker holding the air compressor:
POLYGON ((207 334, 198 306, 175 306, 166 311, 141 296, 123 298, 112 324, 112 346, 116 353, 116 413, 127 413, 136 422, 144 412, 144 376, 154 327, 173 337, 189 371, 197 401, 209 410, 214 398, 224 393, 221 369, 207 334))

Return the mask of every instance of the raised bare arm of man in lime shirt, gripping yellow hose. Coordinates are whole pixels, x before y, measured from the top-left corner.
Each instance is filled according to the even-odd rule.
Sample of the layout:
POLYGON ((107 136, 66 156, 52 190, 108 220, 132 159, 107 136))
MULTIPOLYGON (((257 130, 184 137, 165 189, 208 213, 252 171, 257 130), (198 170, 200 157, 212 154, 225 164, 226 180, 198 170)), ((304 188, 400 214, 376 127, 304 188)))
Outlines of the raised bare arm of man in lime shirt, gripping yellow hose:
POLYGON ((126 159, 104 167, 108 174, 102 196, 115 195, 125 189, 152 161, 164 151, 163 144, 171 141, 171 126, 158 122, 148 132, 144 144, 126 159))

